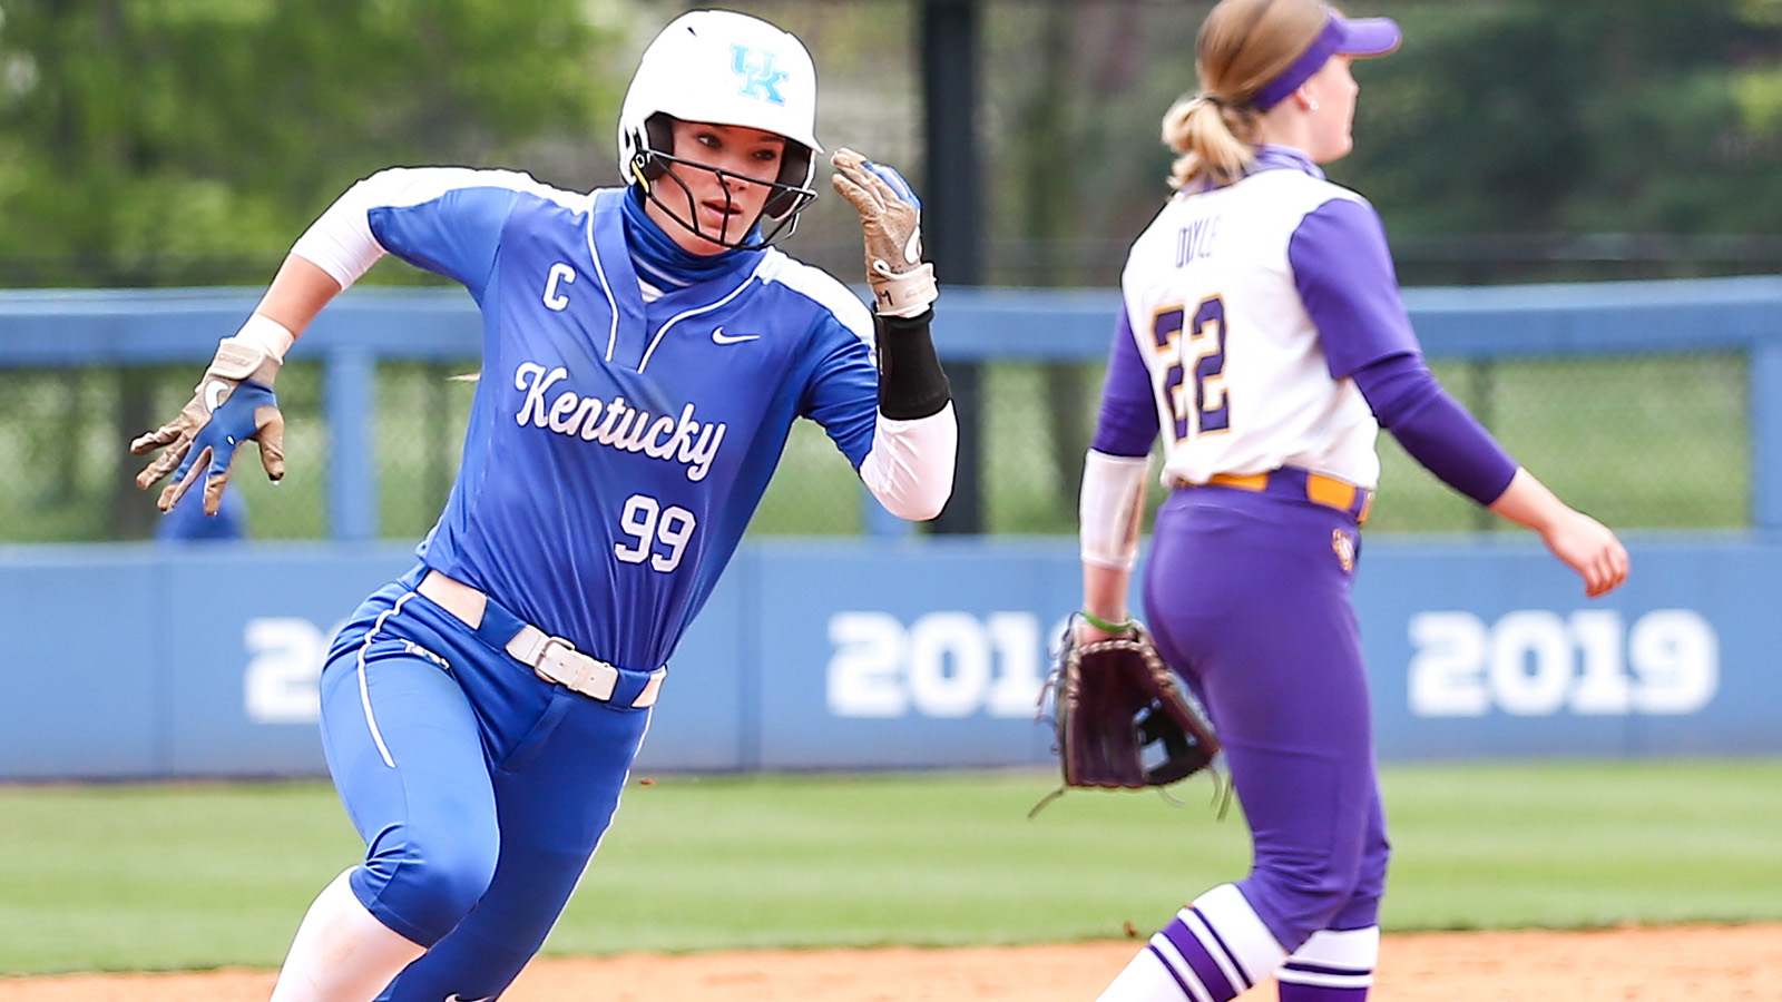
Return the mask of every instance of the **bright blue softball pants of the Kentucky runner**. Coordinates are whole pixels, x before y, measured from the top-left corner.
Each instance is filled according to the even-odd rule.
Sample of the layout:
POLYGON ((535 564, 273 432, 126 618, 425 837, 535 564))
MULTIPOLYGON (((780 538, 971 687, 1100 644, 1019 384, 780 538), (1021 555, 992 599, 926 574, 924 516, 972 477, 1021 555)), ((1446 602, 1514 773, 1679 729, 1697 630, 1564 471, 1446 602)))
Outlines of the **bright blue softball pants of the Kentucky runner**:
POLYGON ((620 669, 613 702, 540 679, 503 649, 511 622, 470 629, 413 590, 422 574, 380 588, 335 637, 323 743, 365 840, 353 893, 428 947, 378 998, 494 998, 618 809, 650 717, 629 699, 649 674, 620 669))

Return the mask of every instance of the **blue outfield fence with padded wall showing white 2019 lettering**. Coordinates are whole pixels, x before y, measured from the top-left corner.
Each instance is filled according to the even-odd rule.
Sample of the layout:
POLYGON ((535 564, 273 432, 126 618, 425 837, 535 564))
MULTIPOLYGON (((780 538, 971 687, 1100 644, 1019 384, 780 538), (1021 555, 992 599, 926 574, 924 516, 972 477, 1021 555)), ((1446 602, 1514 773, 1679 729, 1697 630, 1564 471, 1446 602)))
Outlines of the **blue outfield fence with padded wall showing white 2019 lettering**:
MULTIPOLYGON (((1370 537, 1356 604, 1381 756, 1782 752, 1782 280, 1406 300, 1431 358, 1745 353, 1753 530, 1636 537, 1634 578, 1600 601, 1529 537, 1370 537)), ((0 367, 201 362, 253 303, 0 294, 0 367)), ((946 307, 948 358, 1092 360, 1117 294, 946 307)), ((324 365, 333 540, 0 549, 0 779, 321 772, 326 638, 412 562, 367 542, 376 365, 478 337, 463 292, 356 289, 298 344, 324 365)), ((670 665, 640 768, 1050 761, 1035 699, 1076 599, 1069 538, 752 538, 670 665)))

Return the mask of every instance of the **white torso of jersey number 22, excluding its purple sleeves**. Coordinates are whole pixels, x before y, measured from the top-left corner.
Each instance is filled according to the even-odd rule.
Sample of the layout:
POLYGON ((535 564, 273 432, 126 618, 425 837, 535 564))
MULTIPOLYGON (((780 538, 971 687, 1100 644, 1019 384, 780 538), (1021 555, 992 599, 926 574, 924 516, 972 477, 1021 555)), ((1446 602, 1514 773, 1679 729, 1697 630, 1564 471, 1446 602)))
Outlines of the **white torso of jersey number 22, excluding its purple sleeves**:
POLYGON ((1365 201, 1299 164, 1263 166, 1173 198, 1121 276, 1162 424, 1164 481, 1292 465, 1374 487, 1379 424, 1351 380, 1333 380, 1344 373, 1333 373, 1290 260, 1308 216, 1365 201))

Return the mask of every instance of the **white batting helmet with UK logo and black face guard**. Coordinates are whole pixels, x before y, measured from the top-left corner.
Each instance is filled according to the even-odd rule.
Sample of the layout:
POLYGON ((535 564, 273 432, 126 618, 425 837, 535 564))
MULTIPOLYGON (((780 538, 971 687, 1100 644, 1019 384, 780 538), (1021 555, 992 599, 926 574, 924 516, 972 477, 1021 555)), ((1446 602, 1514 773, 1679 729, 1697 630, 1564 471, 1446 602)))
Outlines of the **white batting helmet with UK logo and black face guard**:
MULTIPOLYGON (((757 242, 732 246, 764 246, 791 234, 798 212, 816 198, 811 178, 816 153, 823 152, 816 143, 816 66, 804 43, 747 14, 681 14, 643 50, 618 112, 618 173, 649 198, 656 198, 652 184, 672 162, 668 119, 743 125, 786 137, 775 191, 761 210, 775 226, 757 242)), ((700 232, 691 221, 683 225, 700 232)))

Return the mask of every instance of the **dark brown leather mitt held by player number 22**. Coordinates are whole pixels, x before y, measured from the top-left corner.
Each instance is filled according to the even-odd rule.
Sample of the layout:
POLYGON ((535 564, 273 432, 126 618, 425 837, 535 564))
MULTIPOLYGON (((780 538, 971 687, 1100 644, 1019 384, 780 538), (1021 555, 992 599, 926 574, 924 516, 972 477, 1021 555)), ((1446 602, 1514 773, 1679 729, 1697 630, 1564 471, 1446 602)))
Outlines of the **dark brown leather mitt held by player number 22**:
MULTIPOLYGON (((1137 620, 1126 637, 1078 644, 1073 617, 1046 694, 1064 767, 1059 793, 1069 786, 1167 786, 1208 768, 1219 754, 1206 711, 1137 620)), ((1050 797, 1034 811, 1046 802, 1050 797)))

